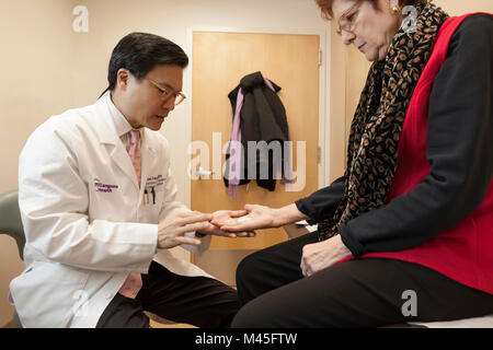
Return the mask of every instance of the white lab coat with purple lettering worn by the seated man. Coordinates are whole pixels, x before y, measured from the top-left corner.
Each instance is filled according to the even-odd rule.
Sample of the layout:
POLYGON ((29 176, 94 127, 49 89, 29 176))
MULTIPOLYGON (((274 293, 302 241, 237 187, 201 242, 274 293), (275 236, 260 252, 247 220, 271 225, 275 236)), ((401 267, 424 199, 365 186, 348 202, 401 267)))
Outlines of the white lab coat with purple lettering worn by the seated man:
MULTIPOLYGON (((158 222, 188 210, 174 200, 169 144, 142 129, 139 188, 114 110, 106 93, 54 116, 21 153, 26 269, 12 280, 10 300, 24 327, 95 327, 128 272, 147 273, 151 260, 179 275, 210 277, 157 249, 158 222)), ((202 253, 210 236, 202 240, 198 250, 186 248, 202 253)))

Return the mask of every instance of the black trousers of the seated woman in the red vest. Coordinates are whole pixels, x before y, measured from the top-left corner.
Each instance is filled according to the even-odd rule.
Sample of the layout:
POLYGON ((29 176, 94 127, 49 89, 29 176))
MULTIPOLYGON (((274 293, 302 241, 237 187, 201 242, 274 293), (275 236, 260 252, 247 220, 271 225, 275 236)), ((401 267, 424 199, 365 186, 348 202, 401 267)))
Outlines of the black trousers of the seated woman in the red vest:
POLYGON ((355 259, 306 278, 302 247, 316 242, 317 232, 240 262, 237 288, 244 306, 232 327, 379 327, 493 313, 492 294, 399 260, 355 259))

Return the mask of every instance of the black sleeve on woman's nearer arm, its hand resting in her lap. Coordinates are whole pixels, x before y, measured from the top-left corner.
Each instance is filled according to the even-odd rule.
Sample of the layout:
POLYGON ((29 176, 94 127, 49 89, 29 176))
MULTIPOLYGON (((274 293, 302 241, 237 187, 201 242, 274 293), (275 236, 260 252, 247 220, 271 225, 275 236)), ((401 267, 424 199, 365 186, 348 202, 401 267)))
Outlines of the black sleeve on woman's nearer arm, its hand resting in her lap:
POLYGON ((493 172, 493 20, 466 19, 452 35, 429 97, 422 184, 341 225, 358 256, 411 248, 450 230, 484 200, 493 172))

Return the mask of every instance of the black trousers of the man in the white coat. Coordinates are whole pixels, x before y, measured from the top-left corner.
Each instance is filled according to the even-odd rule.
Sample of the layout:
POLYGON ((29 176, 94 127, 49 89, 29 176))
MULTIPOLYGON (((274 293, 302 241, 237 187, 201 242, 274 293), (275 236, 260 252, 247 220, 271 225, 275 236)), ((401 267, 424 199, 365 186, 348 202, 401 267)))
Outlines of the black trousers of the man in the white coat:
POLYGON ((144 311, 197 327, 228 327, 239 307, 230 287, 206 277, 175 275, 152 261, 136 299, 116 293, 96 328, 149 328, 144 311))

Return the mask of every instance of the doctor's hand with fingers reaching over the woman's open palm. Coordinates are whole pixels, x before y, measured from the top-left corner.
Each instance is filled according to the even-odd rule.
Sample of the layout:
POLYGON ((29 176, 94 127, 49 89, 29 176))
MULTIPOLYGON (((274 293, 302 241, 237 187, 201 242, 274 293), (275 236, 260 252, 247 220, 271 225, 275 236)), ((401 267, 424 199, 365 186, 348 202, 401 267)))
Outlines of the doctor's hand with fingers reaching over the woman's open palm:
POLYGON ((158 224, 158 248, 169 249, 180 244, 199 245, 200 240, 187 237, 186 232, 200 232, 209 228, 211 214, 202 212, 179 212, 169 215, 158 224))

